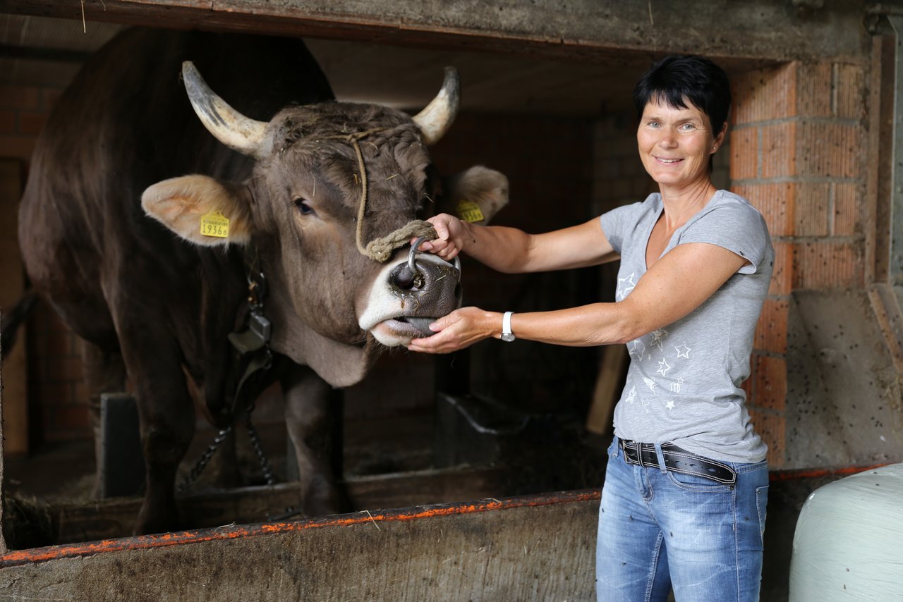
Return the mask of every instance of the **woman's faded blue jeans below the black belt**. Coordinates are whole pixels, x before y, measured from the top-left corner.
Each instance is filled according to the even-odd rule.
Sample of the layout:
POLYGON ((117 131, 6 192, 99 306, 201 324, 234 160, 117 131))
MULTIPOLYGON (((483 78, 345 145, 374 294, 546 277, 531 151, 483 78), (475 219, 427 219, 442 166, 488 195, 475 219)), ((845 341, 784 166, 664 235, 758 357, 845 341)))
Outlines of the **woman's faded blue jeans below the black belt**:
POLYGON ((599 602, 759 600, 768 465, 725 462, 734 486, 628 464, 616 437, 602 487, 599 602))

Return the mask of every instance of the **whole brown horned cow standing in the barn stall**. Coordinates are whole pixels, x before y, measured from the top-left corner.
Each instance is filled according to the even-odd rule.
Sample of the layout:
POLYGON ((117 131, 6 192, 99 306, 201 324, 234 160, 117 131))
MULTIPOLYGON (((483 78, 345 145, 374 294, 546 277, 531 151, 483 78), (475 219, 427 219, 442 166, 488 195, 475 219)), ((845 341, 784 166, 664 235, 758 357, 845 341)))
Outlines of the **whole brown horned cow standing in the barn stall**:
POLYGON ((466 190, 486 218, 507 202, 505 177, 479 167, 438 192, 426 145, 451 124, 456 84, 447 77, 412 118, 331 101, 298 41, 131 30, 62 95, 23 196, 23 257, 34 286, 84 339, 89 386, 122 390, 127 374, 134 390, 147 465, 136 532, 178 526, 190 388, 214 414, 233 401, 241 371, 228 334, 247 325, 249 275, 266 282, 301 507, 342 509, 311 443, 328 420, 330 387, 357 383, 380 348, 413 338, 424 328, 416 317, 460 302, 457 270, 418 255, 417 274, 405 273, 408 248, 393 250, 397 239, 410 238, 409 223, 423 227, 413 220, 438 209, 437 195, 448 203, 466 190), (186 65, 199 121, 180 89, 185 60, 236 108, 186 65), (371 241, 391 258, 378 261, 371 241))

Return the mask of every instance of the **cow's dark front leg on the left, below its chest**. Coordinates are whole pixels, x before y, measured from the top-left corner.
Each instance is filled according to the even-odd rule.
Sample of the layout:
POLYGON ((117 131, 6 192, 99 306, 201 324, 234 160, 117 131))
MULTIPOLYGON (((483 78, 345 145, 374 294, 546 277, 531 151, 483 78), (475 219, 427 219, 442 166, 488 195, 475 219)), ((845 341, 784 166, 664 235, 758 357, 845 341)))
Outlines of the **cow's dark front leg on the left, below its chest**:
POLYGON ((163 533, 179 526, 175 474, 194 434, 194 405, 178 343, 146 312, 132 315, 140 316, 141 323, 126 318, 125 323, 117 320, 117 325, 138 403, 147 468, 135 533, 163 533))

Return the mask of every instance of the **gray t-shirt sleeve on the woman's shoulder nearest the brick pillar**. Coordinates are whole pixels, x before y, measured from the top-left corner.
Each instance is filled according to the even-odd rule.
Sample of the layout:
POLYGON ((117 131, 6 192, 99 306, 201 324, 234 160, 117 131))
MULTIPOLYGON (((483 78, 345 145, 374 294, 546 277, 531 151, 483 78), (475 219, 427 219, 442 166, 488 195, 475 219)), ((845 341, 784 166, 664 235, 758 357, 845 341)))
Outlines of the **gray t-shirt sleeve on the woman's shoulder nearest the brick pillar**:
POLYGON ((721 246, 749 260, 740 273, 756 273, 766 257, 771 239, 762 215, 740 203, 713 208, 688 225, 678 245, 708 243, 721 246))

